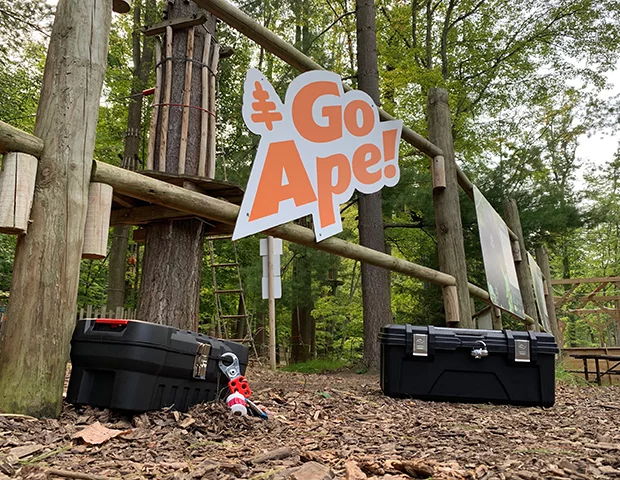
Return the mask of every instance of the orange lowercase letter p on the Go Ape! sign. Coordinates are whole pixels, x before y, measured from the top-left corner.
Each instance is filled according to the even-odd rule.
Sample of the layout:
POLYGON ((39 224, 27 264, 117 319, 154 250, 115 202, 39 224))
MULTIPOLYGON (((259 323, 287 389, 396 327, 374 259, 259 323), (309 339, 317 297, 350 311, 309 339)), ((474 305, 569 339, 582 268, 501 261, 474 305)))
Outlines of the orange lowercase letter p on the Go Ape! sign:
POLYGON ((351 167, 349 160, 341 153, 316 159, 317 190, 319 196, 319 218, 321 228, 336 223, 334 217, 333 195, 346 192, 351 184, 351 167), (336 168, 336 184, 332 183, 334 168, 336 168))

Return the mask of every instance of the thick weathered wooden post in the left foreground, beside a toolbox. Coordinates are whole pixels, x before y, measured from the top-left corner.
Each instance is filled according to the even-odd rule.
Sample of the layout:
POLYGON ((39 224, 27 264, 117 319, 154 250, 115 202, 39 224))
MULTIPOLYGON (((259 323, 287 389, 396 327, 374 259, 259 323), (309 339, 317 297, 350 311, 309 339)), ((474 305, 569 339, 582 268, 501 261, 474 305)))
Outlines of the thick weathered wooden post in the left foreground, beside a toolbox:
POLYGON ((15 252, 0 346, 0 411, 55 417, 75 326, 112 1, 60 0, 35 135, 44 142, 28 235, 15 252))

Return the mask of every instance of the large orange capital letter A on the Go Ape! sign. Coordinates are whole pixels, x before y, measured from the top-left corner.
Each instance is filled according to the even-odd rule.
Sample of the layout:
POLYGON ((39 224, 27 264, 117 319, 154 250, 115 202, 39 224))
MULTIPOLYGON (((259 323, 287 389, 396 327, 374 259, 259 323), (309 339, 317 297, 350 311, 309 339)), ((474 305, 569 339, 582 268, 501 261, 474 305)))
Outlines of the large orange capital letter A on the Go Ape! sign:
POLYGON ((296 206, 315 202, 316 195, 293 140, 269 145, 258 181, 249 221, 278 213, 280 202, 292 198, 296 206), (282 174, 288 183, 282 185, 282 174))

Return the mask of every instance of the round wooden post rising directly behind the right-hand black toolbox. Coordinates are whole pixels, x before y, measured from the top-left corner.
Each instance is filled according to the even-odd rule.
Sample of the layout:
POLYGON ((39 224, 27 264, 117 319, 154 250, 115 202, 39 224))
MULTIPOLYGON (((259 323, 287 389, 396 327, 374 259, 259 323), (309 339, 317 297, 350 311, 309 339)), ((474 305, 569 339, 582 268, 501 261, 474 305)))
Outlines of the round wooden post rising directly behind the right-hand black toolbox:
MULTIPOLYGON (((428 135, 429 140, 444 152, 446 188, 433 189, 439 269, 456 279, 458 295, 458 310, 455 310, 458 311, 458 318, 448 317, 450 309, 446 308, 446 324, 450 327, 474 328, 469 309, 467 264, 463 244, 459 186, 454 161, 452 121, 448 92, 443 88, 431 88, 428 92, 428 135)), ((446 289, 444 289, 444 303, 448 307, 451 305, 452 297, 448 298, 445 293, 446 289)))

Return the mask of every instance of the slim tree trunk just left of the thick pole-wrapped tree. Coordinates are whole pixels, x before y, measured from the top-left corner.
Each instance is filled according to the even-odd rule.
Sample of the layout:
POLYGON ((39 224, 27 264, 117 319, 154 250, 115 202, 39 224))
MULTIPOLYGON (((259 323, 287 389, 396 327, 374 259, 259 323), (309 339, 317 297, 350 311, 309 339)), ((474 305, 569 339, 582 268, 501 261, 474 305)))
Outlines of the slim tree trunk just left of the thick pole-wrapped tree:
MULTIPOLYGON (((129 98, 129 112, 127 115, 127 132, 125 135, 125 151, 123 152, 122 167, 136 170, 138 167, 138 153, 140 151, 140 131, 142 127, 142 103, 140 93, 146 88, 153 64, 153 41, 149 37, 142 39, 140 46, 140 26, 142 23, 140 2, 136 2, 133 10, 133 82, 129 98)), ((147 0, 145 23, 152 24, 155 16, 156 3, 147 0)), ((125 275, 127 272, 127 248, 129 246, 129 232, 131 227, 123 225, 114 227, 112 231, 112 246, 110 247, 110 267, 108 273, 108 310, 115 312, 125 306, 125 275)))

